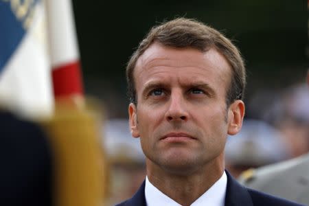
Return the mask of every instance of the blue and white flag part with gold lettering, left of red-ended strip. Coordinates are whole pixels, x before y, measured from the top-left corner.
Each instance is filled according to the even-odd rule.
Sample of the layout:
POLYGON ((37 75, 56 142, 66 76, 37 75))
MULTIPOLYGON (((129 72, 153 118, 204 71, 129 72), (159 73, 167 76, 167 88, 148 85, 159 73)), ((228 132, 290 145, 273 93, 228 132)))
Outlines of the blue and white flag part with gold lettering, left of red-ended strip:
POLYGON ((42 1, 0 1, 0 104, 26 117, 52 113, 42 1))

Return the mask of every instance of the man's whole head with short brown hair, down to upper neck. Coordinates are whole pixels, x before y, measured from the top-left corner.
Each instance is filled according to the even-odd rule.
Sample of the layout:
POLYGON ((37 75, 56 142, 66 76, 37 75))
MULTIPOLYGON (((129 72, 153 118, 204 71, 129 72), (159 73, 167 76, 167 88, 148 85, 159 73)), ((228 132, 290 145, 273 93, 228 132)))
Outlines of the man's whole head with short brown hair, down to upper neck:
POLYGON ((130 129, 148 171, 222 171, 227 135, 238 133, 244 117, 236 47, 202 23, 176 19, 151 30, 127 72, 130 129))

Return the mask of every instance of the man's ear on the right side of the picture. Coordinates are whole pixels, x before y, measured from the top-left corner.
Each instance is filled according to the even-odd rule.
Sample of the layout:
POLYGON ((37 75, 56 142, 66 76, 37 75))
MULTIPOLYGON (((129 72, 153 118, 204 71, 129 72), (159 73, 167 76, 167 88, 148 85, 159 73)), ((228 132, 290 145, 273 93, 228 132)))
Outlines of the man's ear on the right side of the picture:
POLYGON ((244 119, 244 102, 236 100, 229 106, 228 129, 229 135, 236 135, 242 128, 242 120, 244 119))

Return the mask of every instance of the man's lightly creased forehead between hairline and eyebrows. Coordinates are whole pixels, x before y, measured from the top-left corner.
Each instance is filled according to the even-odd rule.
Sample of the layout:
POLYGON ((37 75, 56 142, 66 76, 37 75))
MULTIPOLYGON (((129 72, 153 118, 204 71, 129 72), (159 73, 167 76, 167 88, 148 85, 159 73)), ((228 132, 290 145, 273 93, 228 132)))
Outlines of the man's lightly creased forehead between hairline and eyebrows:
MULTIPOLYGON (((151 78, 165 78, 171 74, 176 78, 179 73, 187 73, 182 78, 196 77, 207 79, 214 84, 227 85, 231 79, 229 62, 216 49, 201 52, 194 48, 166 47, 153 43, 142 54, 136 63, 134 78, 136 89, 151 78), (190 75, 189 75, 190 74, 190 75)), ((214 85, 215 87, 216 85, 214 85)))

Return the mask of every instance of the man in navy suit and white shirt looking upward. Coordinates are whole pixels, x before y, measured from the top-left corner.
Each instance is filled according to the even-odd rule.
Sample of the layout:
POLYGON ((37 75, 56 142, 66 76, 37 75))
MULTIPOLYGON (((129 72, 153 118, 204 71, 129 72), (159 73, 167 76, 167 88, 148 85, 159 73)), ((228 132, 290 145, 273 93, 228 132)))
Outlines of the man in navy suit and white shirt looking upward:
POLYGON ((147 175, 119 205, 297 205, 242 187, 225 170, 227 135, 244 117, 245 69, 220 32, 184 18, 153 27, 126 72, 147 175))

